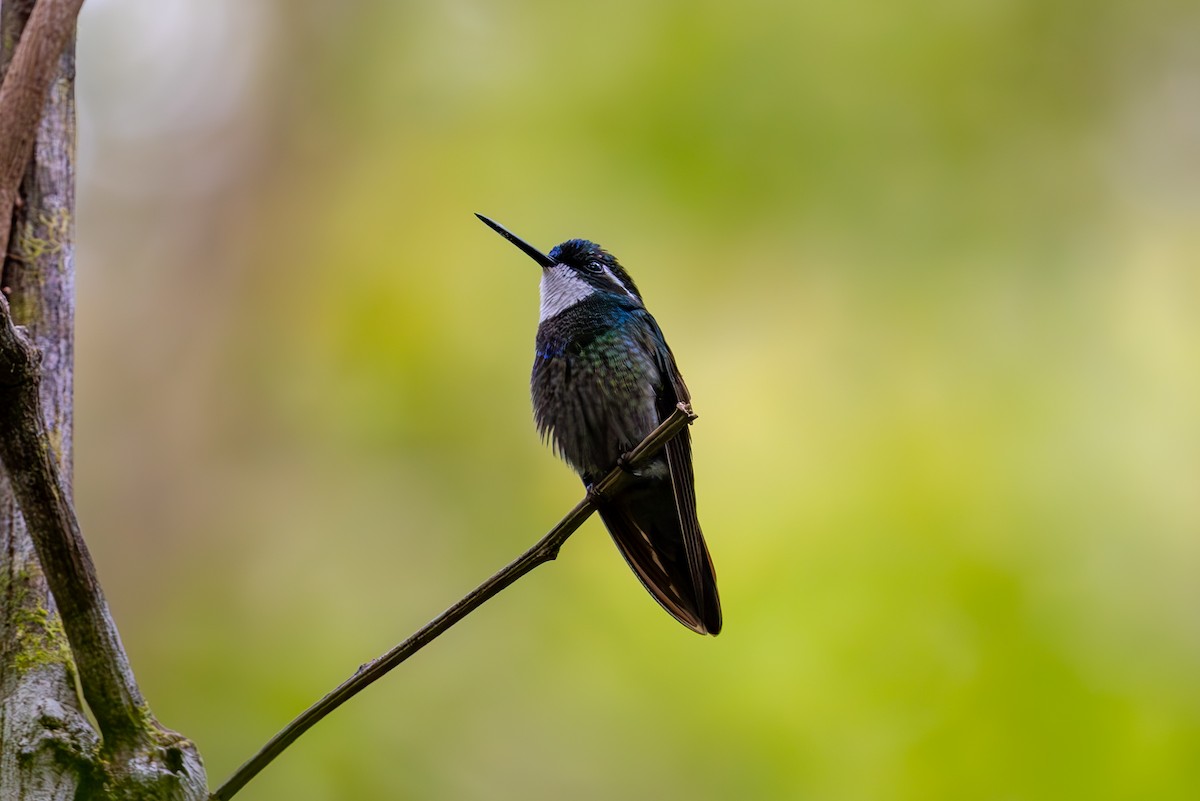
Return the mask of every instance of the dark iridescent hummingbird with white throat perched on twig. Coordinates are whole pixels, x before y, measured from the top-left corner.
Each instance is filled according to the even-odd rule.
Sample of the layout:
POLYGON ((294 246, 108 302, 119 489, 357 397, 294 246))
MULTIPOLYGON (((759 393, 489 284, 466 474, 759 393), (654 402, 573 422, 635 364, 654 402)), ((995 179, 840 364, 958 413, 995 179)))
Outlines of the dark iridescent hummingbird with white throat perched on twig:
MULTIPOLYGON (((587 488, 691 396, 634 279, 595 242, 542 253, 475 215, 541 267, 530 393, 542 439, 587 488)), ((632 481, 598 502, 622 556, 654 600, 701 634, 721 631, 721 602, 696 518, 691 439, 684 429, 632 481)))

